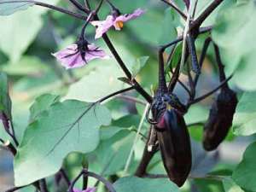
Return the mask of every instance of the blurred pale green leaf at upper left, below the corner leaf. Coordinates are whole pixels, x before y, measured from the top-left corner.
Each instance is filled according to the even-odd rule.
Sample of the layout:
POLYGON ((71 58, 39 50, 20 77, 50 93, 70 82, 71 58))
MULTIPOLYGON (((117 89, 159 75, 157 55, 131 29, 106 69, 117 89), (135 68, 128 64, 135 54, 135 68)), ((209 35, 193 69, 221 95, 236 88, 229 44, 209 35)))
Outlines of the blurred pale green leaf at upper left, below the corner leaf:
POLYGON ((18 12, 8 17, 0 17, 0 49, 9 56, 11 62, 20 60, 29 44, 36 38, 43 26, 40 13, 35 9, 18 12), (29 27, 27 25, 29 24, 29 27))

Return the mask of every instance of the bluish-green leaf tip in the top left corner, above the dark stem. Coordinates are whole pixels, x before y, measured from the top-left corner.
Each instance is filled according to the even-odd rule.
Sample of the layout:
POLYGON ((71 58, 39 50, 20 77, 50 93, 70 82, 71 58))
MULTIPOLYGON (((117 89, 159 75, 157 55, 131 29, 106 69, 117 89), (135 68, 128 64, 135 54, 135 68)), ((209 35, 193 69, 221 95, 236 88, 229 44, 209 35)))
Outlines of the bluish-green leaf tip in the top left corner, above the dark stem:
MULTIPOLYGON (((20 1, 22 2, 22 1, 20 1)), ((12 15, 16 11, 28 9, 34 5, 32 2, 19 3, 18 1, 5 1, 0 2, 0 15, 12 15)))

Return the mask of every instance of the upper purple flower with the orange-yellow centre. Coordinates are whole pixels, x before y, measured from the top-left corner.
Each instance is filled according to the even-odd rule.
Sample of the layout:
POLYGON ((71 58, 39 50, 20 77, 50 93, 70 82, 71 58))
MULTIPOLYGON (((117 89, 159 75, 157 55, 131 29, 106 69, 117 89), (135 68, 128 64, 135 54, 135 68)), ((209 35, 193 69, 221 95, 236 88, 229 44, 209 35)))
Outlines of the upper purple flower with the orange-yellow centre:
POLYGON ((95 38, 101 38, 102 34, 108 32, 112 26, 114 26, 115 30, 121 30, 124 27, 124 22, 135 19, 143 15, 144 12, 143 9, 136 9, 132 14, 108 15, 106 20, 91 21, 91 25, 97 27, 95 38))

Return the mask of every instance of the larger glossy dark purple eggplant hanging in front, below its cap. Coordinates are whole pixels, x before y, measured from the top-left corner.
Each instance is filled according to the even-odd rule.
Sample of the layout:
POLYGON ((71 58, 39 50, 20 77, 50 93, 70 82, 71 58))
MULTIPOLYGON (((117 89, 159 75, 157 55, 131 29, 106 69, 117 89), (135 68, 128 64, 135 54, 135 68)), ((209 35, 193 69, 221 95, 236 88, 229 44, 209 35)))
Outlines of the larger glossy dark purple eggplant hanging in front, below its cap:
POLYGON ((173 108, 166 110, 155 126, 157 130, 164 130, 157 131, 157 138, 167 175, 180 187, 189 176, 192 163, 189 132, 183 115, 173 108))

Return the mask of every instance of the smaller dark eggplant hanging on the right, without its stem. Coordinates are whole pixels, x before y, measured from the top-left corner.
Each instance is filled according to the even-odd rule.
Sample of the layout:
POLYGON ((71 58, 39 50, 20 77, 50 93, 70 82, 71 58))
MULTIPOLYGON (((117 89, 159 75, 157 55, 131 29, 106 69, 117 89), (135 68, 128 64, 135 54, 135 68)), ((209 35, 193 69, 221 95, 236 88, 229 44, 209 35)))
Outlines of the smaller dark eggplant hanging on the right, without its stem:
POLYGON ((207 151, 218 148, 218 145, 224 141, 232 126, 237 102, 236 92, 226 85, 212 103, 203 135, 203 147, 207 151))

